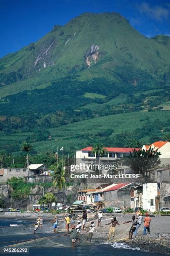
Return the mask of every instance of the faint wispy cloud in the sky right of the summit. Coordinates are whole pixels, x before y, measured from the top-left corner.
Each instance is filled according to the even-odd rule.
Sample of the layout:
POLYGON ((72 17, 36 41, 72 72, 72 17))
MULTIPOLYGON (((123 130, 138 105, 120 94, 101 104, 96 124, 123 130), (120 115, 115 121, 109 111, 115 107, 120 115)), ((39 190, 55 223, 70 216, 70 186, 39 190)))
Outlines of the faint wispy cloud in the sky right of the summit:
POLYGON ((150 15, 150 17, 153 19, 162 20, 168 18, 168 16, 170 15, 170 8, 169 6, 167 8, 164 8, 158 5, 150 7, 148 3, 144 2, 140 5, 140 12, 150 15))

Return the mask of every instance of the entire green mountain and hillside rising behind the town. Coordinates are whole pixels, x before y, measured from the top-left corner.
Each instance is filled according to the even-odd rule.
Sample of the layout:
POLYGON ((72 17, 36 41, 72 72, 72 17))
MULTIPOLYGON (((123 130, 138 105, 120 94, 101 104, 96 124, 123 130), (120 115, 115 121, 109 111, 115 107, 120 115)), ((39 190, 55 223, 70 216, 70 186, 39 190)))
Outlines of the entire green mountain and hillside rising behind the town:
POLYGON ((125 146, 126 138, 118 144, 116 134, 134 132, 134 125, 127 130, 119 121, 138 115, 145 120, 138 120, 138 129, 150 116, 150 131, 135 130, 136 139, 165 139, 169 59, 170 37, 146 38, 118 13, 85 13, 65 26, 54 26, 39 41, 0 59, 1 148, 18 151, 27 139, 37 150, 54 149, 59 140, 54 131, 60 130, 59 141, 68 151, 99 140, 125 146), (114 125, 110 118, 115 118, 114 125), (155 125, 155 118, 165 124, 155 125), (98 135, 83 137, 83 122, 83 134, 90 122, 98 135), (49 141, 49 135, 56 137, 49 141))

